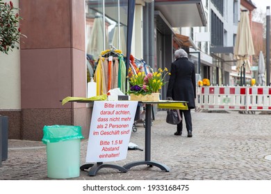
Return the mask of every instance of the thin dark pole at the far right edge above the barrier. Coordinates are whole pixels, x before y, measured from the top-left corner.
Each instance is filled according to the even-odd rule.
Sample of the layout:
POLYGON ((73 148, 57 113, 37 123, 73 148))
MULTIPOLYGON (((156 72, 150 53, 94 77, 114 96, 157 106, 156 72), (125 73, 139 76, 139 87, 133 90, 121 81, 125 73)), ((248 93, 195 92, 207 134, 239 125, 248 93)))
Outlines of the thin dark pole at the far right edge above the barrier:
POLYGON ((270 86, 270 6, 266 7, 266 85, 270 86))

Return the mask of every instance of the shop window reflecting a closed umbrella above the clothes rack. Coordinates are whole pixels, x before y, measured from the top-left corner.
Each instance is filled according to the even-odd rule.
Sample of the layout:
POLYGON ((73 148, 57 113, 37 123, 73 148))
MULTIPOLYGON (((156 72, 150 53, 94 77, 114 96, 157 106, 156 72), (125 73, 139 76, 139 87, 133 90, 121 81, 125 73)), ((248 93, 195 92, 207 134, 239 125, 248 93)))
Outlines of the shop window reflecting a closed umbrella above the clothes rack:
POLYGON ((110 48, 119 49, 126 55, 127 3, 128 0, 87 2, 86 53, 95 60, 101 51, 110 48))

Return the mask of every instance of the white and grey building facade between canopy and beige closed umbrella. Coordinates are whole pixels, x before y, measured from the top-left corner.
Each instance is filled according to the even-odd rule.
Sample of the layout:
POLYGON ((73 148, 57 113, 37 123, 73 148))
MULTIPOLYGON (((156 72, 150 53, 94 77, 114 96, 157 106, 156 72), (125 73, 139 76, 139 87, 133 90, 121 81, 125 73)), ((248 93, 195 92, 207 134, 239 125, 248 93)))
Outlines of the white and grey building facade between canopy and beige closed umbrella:
POLYGON ((240 1, 210 1, 210 80, 213 85, 231 85, 230 73, 233 66, 233 46, 236 38, 240 1))

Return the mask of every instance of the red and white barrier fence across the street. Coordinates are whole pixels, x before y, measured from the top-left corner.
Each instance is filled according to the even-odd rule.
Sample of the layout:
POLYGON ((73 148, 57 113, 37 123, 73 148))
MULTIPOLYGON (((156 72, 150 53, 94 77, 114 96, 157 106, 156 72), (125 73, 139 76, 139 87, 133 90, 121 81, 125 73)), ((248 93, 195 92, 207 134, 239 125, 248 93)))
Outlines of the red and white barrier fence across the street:
POLYGON ((198 87, 197 109, 271 110, 271 87, 198 87))

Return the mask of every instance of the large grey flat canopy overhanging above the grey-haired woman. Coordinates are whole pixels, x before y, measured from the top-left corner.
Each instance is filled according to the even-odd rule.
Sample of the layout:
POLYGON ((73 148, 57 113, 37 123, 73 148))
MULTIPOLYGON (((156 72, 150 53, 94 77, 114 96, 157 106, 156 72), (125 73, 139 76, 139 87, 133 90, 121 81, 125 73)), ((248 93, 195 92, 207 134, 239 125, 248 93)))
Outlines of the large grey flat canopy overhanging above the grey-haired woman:
POLYGON ((156 0, 154 8, 162 12, 172 27, 207 25, 201 0, 156 0))

